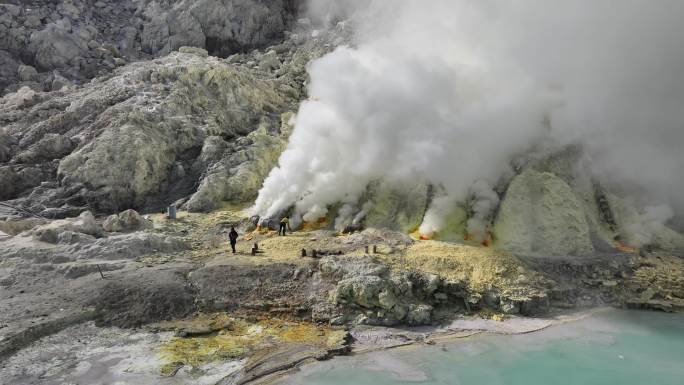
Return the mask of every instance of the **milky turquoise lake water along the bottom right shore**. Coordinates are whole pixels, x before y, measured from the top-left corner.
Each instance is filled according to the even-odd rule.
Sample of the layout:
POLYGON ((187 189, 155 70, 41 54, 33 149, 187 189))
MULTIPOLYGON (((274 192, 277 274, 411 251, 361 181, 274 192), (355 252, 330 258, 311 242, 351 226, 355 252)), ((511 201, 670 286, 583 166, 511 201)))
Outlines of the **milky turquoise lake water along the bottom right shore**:
POLYGON ((340 357, 284 383, 683 385, 684 315, 611 310, 530 334, 340 357))

